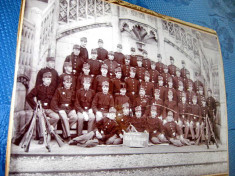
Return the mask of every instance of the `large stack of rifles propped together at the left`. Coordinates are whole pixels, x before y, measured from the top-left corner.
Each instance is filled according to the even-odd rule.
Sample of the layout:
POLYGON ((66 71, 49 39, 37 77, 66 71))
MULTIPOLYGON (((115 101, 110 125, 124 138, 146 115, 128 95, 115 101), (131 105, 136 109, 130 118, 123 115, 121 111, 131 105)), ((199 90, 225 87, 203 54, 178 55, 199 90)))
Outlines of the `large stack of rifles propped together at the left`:
POLYGON ((51 137, 54 137, 59 147, 62 147, 64 142, 47 119, 40 101, 37 102, 37 106, 34 110, 31 120, 20 129, 20 133, 14 138, 13 143, 16 145, 20 145, 21 143, 21 148, 24 148, 25 152, 29 151, 30 143, 36 127, 37 118, 39 121, 40 131, 42 132, 42 136, 44 139, 44 145, 48 152, 51 151, 51 147, 49 144, 51 141, 51 137))

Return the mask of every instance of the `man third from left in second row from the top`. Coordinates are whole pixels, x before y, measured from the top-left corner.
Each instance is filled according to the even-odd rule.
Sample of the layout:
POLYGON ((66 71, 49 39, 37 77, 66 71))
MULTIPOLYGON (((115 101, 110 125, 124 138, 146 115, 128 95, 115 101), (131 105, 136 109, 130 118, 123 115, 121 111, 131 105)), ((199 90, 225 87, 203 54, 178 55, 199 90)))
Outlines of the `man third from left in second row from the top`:
POLYGON ((115 77, 115 69, 120 66, 116 61, 114 61, 114 53, 113 51, 109 51, 108 59, 104 61, 104 64, 108 66, 108 75, 109 78, 112 79, 115 77))

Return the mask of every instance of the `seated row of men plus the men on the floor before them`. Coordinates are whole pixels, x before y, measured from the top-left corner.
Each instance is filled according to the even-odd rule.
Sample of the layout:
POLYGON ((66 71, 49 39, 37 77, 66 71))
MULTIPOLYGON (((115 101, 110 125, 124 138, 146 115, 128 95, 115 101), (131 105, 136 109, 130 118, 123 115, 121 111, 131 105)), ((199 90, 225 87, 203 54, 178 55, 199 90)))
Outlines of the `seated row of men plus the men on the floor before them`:
MULTIPOLYGON (((194 96, 189 112, 186 94, 182 95, 182 101, 175 106, 173 92, 168 91, 168 106, 165 106, 160 103, 160 91, 156 89, 152 102, 146 106, 137 105, 133 108, 128 102, 115 106, 119 96, 114 99, 109 94, 108 81, 102 82, 102 91, 95 93, 90 89, 91 78, 87 77, 82 81, 83 87, 75 92, 72 77, 66 75, 62 86, 53 94, 51 79, 51 72, 44 73, 42 84, 32 89, 26 100, 33 109, 36 107, 35 98, 40 100, 46 116, 55 128, 61 119, 63 137, 71 145, 121 144, 124 133, 129 131, 149 132, 150 141, 154 144, 169 142, 176 146, 190 145, 189 132, 193 140, 199 136, 205 139, 204 120, 208 114, 205 98, 201 99, 202 107, 199 107, 197 96, 194 96), (196 115, 199 108, 200 116, 196 115), (84 121, 88 121, 86 134, 82 133, 84 121), (75 123, 78 124, 77 137, 72 139, 70 128, 75 123)), ((120 96, 127 97, 125 94, 126 86, 123 84, 120 96)), ((140 87, 138 98, 142 103, 145 95, 145 89, 140 87)), ((39 143, 43 143, 41 132, 39 137, 39 143)))

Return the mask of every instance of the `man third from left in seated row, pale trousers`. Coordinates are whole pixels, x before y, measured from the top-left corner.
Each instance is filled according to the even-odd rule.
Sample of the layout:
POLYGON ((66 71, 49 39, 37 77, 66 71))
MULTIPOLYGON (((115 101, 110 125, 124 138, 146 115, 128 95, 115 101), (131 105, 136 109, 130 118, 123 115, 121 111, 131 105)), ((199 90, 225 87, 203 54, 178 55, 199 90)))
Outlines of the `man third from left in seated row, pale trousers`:
POLYGON ((88 133, 93 130, 95 115, 91 108, 92 100, 95 96, 95 91, 90 89, 91 78, 86 77, 83 79, 83 88, 79 89, 76 93, 75 109, 78 116, 78 132, 77 135, 82 135, 83 122, 88 121, 88 133))

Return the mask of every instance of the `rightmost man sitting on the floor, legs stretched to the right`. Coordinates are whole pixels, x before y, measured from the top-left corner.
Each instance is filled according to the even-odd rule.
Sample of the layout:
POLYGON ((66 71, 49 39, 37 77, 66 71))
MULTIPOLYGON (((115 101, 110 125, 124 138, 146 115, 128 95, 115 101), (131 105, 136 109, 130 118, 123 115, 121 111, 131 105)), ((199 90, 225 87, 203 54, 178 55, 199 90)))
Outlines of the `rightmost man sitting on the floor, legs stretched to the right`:
POLYGON ((166 120, 167 123, 164 125, 164 132, 165 137, 168 139, 168 141, 177 147, 190 145, 190 142, 183 137, 181 128, 174 121, 172 111, 168 111, 166 120))

